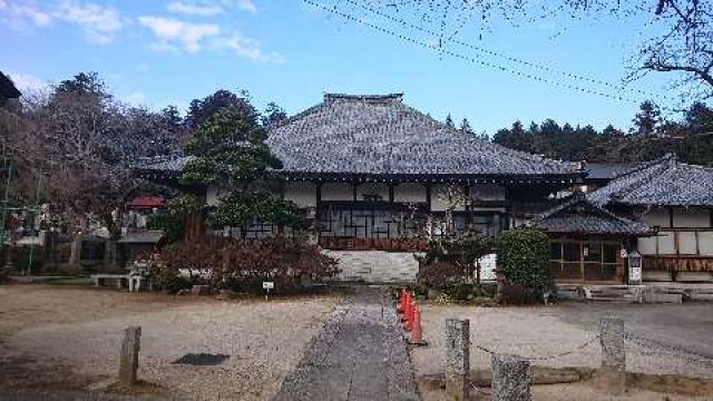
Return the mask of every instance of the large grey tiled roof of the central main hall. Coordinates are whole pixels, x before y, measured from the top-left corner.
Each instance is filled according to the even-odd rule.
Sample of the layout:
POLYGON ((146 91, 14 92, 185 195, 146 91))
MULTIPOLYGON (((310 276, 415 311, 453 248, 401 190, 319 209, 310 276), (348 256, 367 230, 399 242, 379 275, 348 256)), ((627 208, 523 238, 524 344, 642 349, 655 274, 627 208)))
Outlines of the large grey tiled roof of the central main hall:
POLYGON ((575 175, 578 165, 482 141, 402 102, 401 95, 325 95, 275 127, 272 151, 293 173, 575 175))

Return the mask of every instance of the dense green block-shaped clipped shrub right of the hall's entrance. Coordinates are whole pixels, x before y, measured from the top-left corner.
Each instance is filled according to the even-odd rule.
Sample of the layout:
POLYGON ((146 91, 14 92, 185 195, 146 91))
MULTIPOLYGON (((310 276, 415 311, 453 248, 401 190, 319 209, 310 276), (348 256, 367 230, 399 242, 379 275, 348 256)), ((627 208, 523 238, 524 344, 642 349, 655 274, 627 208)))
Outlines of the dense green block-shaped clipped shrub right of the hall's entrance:
POLYGON ((535 229, 511 229, 498 243, 498 271, 511 285, 522 285, 536 294, 551 288, 549 239, 535 229))

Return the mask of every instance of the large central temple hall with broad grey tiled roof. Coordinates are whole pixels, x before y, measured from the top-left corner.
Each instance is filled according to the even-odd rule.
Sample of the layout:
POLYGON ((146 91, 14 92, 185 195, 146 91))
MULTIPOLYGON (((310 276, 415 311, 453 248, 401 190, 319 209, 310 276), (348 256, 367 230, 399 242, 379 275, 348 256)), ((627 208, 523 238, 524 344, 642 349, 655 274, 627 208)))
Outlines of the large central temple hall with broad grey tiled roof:
MULTIPOLYGON (((476 139, 403 102, 402 95, 328 94, 273 128, 284 198, 311 211, 319 243, 343 251, 417 251, 423 233, 496 236, 551 206, 585 175, 579 164, 476 139)), ((145 166, 170 179, 189 158, 145 166)), ((205 188, 206 203, 226 194, 205 188)), ((248 236, 276 232, 271 224, 248 236)))

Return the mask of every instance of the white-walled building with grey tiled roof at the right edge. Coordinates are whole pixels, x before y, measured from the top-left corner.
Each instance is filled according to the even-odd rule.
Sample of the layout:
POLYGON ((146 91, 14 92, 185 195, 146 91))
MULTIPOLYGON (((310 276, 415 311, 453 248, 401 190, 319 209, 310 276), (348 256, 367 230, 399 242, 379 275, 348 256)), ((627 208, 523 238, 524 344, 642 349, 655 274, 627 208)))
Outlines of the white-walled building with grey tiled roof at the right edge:
POLYGON ((589 199, 656 232, 636 239, 644 281, 713 281, 713 169, 675 155, 617 175, 589 199))

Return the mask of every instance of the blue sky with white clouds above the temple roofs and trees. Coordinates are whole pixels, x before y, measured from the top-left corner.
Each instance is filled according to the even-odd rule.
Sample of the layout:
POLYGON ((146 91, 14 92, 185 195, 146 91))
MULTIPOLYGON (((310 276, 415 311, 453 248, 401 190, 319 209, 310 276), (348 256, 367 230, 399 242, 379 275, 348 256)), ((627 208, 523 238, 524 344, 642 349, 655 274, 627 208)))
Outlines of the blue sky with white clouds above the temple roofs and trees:
MULTIPOLYGON (((348 3, 338 10, 355 14, 359 9, 348 3)), ((427 46, 438 43, 438 37, 361 11, 362 22, 427 46)), ((457 39, 616 86, 637 43, 660 29, 646 18, 573 21, 561 14, 521 19, 514 27, 496 16, 489 30, 480 30, 475 18, 457 39)), ((185 107, 218 88, 247 89, 258 107, 274 100, 290 114, 319 102, 325 91, 404 92, 409 105, 433 117, 451 113, 456 120, 467 117, 477 131, 492 134, 516 119, 626 128, 637 101, 653 98, 674 106, 665 97, 675 95, 667 89, 668 75, 652 75, 618 90, 457 43, 446 43, 447 52, 439 53, 302 0, 0 0, 0 36, 6 38, 0 70, 26 89, 98 71, 120 99, 150 108, 185 107)))

